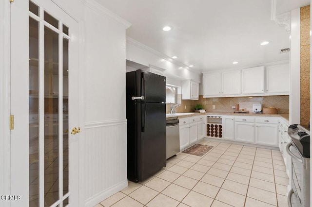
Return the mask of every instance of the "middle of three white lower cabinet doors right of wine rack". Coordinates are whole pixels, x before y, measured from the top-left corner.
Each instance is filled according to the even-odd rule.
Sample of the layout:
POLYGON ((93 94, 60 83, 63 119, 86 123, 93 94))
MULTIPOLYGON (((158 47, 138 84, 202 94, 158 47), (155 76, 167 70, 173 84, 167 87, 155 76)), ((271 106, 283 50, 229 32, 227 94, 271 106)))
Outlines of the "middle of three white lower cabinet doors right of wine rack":
POLYGON ((254 123, 235 121, 235 140, 254 143, 254 123))

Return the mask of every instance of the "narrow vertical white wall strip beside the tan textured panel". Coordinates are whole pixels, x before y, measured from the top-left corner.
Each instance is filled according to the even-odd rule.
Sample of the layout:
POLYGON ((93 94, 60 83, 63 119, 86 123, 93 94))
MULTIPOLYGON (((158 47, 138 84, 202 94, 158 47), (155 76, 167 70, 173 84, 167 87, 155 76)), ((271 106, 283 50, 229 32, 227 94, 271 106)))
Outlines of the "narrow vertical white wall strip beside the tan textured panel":
POLYGON ((300 8, 291 11, 289 123, 300 123, 300 8))

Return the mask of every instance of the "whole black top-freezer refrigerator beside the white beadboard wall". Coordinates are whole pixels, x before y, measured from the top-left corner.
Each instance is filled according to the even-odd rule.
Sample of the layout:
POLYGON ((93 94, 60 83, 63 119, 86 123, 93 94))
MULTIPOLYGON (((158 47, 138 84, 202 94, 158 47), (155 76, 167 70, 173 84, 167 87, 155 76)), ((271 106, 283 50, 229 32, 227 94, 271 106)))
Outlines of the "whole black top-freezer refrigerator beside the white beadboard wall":
POLYGON ((126 73, 128 180, 143 181, 166 166, 166 77, 126 73))

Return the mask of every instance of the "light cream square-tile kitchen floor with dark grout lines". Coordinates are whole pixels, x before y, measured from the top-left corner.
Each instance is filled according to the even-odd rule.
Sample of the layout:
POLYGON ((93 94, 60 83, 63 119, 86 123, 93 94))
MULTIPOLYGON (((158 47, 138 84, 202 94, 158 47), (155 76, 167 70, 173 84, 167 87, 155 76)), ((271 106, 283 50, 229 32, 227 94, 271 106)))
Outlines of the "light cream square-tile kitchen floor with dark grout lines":
POLYGON ((287 207, 281 153, 202 140, 206 155, 180 153, 144 182, 129 182, 95 207, 287 207))

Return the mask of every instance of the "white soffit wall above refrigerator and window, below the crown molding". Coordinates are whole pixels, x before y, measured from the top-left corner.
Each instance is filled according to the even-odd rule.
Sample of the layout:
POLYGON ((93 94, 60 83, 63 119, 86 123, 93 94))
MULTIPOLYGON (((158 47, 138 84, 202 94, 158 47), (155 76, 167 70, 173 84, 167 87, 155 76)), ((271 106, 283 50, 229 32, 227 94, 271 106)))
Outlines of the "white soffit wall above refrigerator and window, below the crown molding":
POLYGON ((192 69, 180 69, 181 66, 165 60, 163 54, 136 42, 131 38, 127 38, 126 42, 126 58, 142 65, 153 65, 158 68, 165 69, 164 74, 168 78, 176 80, 193 79, 201 83, 201 73, 193 72, 192 69))

